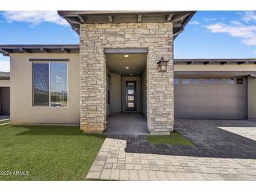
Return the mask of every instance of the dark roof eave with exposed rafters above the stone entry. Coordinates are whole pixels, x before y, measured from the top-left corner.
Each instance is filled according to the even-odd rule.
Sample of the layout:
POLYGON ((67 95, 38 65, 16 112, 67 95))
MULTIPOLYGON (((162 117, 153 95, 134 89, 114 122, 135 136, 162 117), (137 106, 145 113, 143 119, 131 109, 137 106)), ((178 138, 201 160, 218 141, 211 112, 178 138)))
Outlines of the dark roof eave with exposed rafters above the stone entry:
POLYGON ((195 13, 196 11, 58 11, 78 34, 80 24, 83 23, 173 22, 174 38, 184 30, 195 13))

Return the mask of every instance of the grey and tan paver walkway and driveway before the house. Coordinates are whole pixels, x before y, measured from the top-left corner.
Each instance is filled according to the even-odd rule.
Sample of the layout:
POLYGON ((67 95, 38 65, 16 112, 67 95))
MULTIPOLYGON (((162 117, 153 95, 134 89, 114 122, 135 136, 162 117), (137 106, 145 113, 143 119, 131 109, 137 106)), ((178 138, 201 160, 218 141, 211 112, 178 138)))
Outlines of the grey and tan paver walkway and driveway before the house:
POLYGON ((218 127, 256 127, 252 121, 177 120, 196 144, 149 144, 145 135, 108 135, 87 179, 256 180, 256 141, 218 127))

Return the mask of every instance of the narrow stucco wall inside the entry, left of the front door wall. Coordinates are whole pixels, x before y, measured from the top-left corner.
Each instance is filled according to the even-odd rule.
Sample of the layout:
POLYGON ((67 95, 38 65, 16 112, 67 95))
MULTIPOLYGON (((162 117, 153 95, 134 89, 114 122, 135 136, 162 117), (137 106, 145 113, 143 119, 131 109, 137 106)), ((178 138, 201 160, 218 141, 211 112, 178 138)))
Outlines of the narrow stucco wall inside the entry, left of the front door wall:
POLYGON ((121 75, 111 74, 110 113, 121 113, 121 75))

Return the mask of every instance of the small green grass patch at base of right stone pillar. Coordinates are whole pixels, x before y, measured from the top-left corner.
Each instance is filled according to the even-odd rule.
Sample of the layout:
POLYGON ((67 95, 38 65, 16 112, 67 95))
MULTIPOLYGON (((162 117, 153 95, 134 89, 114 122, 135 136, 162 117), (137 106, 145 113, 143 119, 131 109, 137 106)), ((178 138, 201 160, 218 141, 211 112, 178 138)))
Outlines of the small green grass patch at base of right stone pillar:
POLYGON ((147 141, 152 144, 173 144, 194 146, 192 142, 183 137, 179 132, 171 132, 170 135, 147 135, 147 141))

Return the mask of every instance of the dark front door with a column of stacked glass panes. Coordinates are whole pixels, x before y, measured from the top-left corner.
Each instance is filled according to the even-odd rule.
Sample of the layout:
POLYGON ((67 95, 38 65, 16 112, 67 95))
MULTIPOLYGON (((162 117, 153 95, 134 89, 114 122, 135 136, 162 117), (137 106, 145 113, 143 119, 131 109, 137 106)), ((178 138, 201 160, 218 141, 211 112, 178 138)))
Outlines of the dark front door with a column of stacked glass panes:
POLYGON ((126 81, 126 111, 136 111, 136 81, 126 81))

